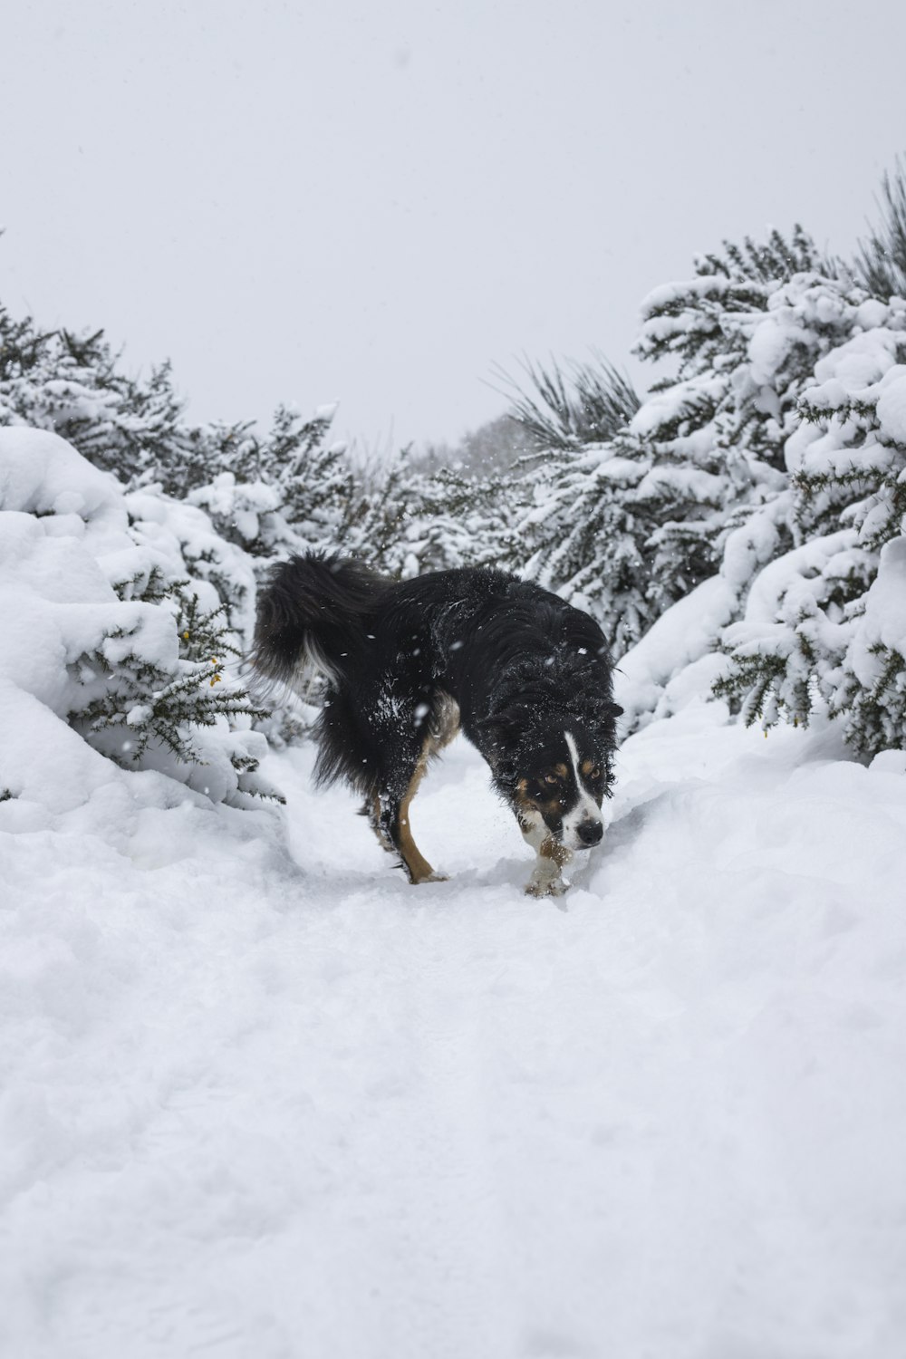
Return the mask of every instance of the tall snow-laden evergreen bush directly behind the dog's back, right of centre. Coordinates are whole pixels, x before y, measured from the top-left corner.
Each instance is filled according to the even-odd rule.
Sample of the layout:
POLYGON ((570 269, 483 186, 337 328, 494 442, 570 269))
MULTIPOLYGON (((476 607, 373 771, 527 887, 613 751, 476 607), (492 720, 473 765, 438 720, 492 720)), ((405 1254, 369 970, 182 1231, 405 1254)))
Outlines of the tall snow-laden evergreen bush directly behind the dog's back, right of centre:
MULTIPOLYGON (((549 374, 539 382, 550 432, 562 434, 539 459, 516 541, 528 572, 590 607, 618 654, 713 576, 735 530, 786 489, 797 395, 816 357, 849 333, 834 300, 852 284, 819 272, 831 266, 800 228, 791 241, 727 245, 695 268, 642 303, 637 353, 668 360, 674 375, 640 402, 604 364, 590 408, 595 442, 570 439, 588 382, 575 394, 549 374), (815 294, 808 323, 789 319, 785 288, 815 294)), ((538 402, 523 405, 538 428, 538 402)), ((772 553, 792 546, 785 516, 769 518, 772 553)))

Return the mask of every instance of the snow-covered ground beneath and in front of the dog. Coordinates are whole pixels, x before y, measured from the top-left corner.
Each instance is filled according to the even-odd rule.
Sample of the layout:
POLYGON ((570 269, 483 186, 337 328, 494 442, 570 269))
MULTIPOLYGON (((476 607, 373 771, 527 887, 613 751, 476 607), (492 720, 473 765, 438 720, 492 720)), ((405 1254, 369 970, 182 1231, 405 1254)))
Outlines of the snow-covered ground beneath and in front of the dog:
POLYGON ((304 749, 1 802, 0 1352, 898 1359, 906 757, 835 741, 653 723, 560 902, 462 743, 420 889, 304 749))

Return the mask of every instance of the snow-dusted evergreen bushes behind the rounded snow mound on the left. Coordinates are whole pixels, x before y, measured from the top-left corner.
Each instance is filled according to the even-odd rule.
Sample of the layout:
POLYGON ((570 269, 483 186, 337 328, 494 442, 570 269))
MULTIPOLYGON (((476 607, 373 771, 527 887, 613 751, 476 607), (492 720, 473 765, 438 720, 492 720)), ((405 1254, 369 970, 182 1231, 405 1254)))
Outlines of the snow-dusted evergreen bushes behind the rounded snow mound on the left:
MULTIPOLYGON (((193 425, 168 364, 129 376, 99 330, 39 330, 0 307, 0 427, 52 429, 130 489, 158 488, 205 510, 217 538, 255 559, 340 546, 363 489, 345 444, 329 442, 334 406, 303 419, 281 406, 253 423, 193 425)), ((238 601, 208 572, 228 609, 238 601)))

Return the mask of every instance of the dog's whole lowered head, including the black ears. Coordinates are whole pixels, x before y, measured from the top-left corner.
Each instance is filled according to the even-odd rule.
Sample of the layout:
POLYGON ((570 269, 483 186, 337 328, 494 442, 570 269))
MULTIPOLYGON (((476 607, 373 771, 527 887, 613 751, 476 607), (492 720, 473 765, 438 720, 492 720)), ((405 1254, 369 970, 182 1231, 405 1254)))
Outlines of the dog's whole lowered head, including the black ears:
POLYGON ((588 727, 575 719, 532 733, 509 750, 507 794, 526 832, 550 834, 566 849, 591 849, 603 836, 600 805, 613 783, 614 719, 588 727))

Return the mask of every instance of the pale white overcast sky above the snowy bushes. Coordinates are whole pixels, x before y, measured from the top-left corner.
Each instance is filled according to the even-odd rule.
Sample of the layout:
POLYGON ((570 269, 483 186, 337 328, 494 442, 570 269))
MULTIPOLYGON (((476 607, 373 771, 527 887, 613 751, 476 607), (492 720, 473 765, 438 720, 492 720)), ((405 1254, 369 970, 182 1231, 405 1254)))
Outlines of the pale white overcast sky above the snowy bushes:
POLYGON ((200 420, 455 439, 724 236, 850 249, 903 53, 903 0, 5 0, 0 296, 200 420))

